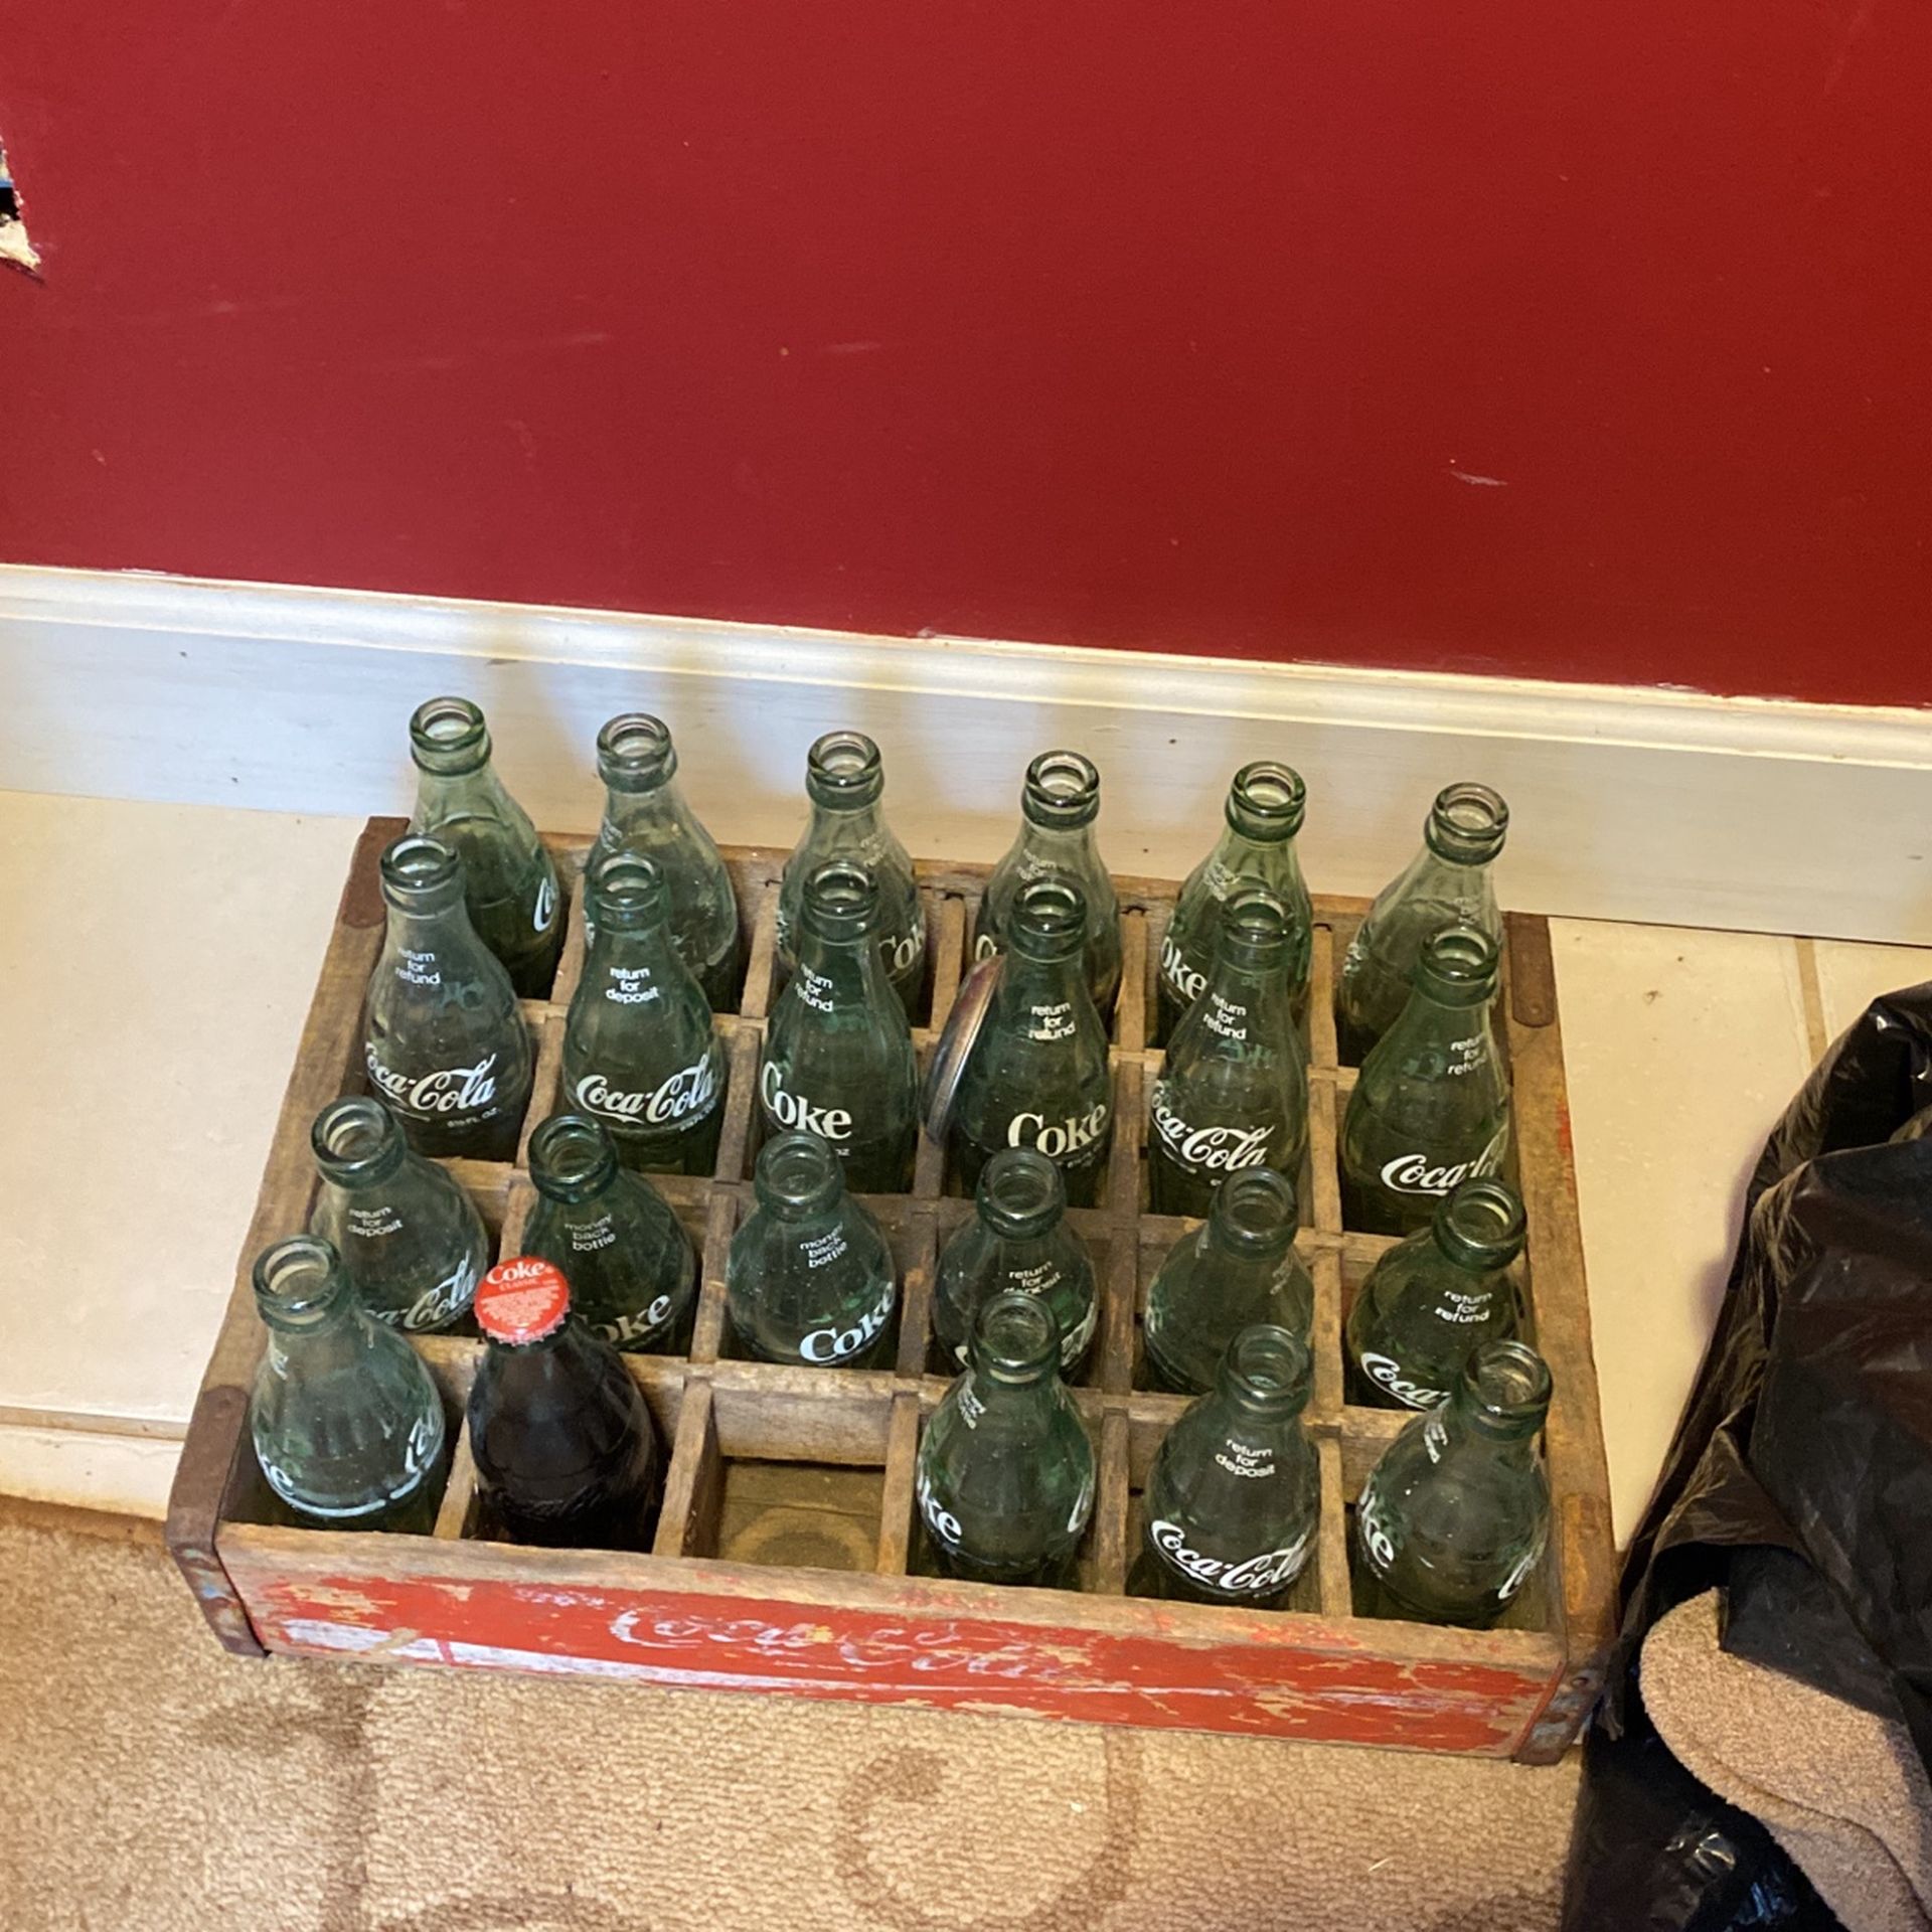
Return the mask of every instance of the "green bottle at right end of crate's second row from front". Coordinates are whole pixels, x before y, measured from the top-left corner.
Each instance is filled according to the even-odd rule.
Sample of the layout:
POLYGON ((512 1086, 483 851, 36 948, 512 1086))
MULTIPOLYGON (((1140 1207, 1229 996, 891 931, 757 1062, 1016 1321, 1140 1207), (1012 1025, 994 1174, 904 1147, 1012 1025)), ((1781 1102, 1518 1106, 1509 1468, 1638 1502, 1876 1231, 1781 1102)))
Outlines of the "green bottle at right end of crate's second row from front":
POLYGON ((1470 1350, 1517 1333, 1509 1264, 1522 1254, 1522 1202, 1507 1180, 1464 1180, 1426 1229, 1370 1271, 1343 1331, 1349 1401, 1434 1408, 1470 1350))

